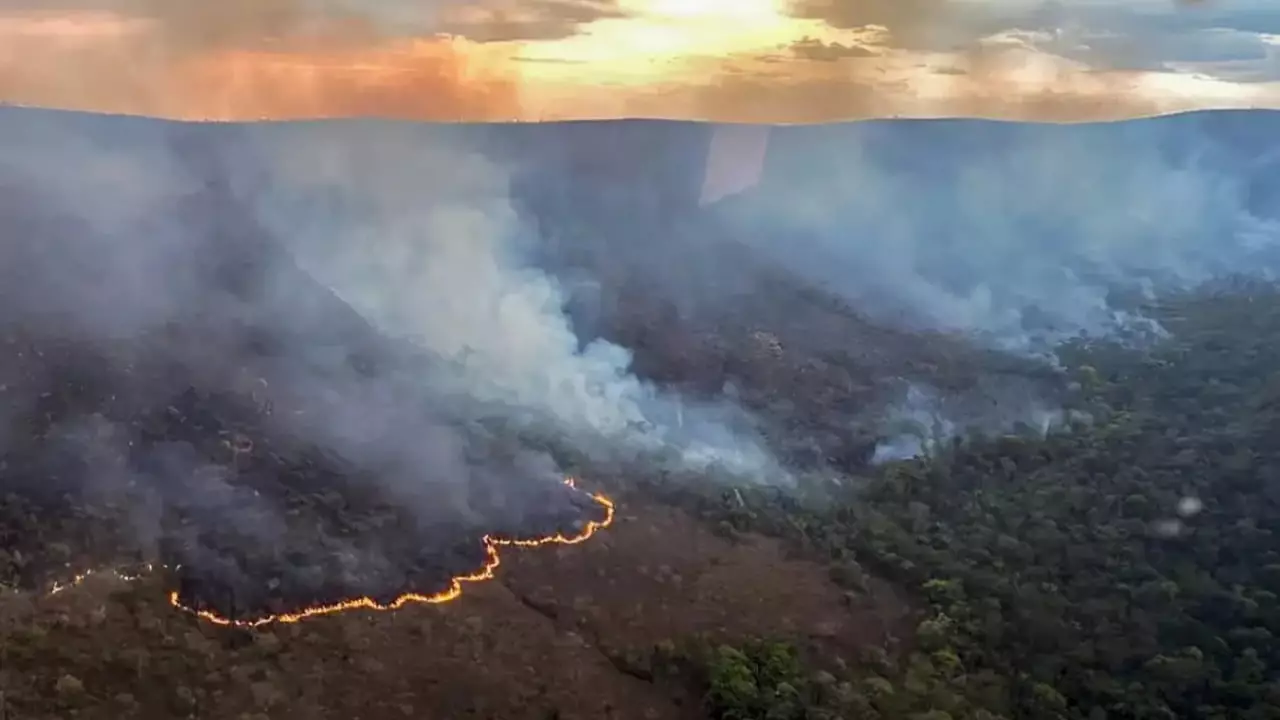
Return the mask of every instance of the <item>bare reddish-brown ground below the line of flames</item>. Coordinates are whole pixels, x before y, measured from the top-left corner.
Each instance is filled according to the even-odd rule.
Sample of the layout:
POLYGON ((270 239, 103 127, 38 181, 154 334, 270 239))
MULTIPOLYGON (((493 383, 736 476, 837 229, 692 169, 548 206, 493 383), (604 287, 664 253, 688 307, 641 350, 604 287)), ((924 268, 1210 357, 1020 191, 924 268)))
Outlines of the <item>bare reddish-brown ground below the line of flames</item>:
POLYGON ((396 612, 242 633, 173 611, 157 579, 8 593, 0 692, 10 716, 41 720, 696 720, 700 688, 668 675, 663 652, 764 635, 852 661, 910 626, 910 605, 887 588, 850 596, 774 541, 724 538, 671 507, 623 507, 593 542, 504 552, 497 580, 462 600, 396 612))

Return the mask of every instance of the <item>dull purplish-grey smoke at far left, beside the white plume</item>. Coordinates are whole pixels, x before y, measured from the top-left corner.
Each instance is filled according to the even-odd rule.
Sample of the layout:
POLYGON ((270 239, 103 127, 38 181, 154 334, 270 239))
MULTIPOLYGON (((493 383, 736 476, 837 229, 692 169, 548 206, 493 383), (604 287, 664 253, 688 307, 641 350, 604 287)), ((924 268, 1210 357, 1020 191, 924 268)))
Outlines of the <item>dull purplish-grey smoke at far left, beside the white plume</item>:
POLYGON ((571 498, 529 502, 562 487, 545 454, 433 411, 389 360, 352 361, 379 355, 376 333, 228 193, 210 161, 227 131, 193 140, 46 111, 0 122, 6 492, 115 509, 127 546, 224 588, 360 557, 364 575, 321 574, 329 591, 278 585, 326 600, 438 579, 424 564, 439 568, 434 536, 457 542, 444 529, 479 543, 573 516, 571 498), (332 516, 305 530, 315 515, 298 520, 297 498, 339 478, 357 488, 343 498, 352 515, 406 515, 417 550, 351 539, 332 516))

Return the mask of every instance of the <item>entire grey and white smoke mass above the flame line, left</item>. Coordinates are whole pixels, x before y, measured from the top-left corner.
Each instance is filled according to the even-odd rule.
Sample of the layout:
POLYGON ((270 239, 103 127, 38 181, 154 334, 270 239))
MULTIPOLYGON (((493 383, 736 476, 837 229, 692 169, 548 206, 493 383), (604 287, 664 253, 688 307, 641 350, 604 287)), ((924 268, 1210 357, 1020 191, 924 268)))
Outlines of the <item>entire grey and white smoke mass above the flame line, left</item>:
POLYGON ((579 342, 465 128, 0 127, 0 487, 114 509, 195 574, 183 597, 227 614, 472 570, 481 534, 590 514, 552 450, 773 471, 730 410, 579 342))

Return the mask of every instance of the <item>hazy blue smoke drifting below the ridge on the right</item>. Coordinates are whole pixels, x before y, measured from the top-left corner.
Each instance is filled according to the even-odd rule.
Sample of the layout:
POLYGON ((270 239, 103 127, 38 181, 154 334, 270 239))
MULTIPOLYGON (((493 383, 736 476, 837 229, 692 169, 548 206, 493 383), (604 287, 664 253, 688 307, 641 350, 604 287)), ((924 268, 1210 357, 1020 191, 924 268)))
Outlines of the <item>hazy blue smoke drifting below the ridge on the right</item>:
POLYGON ((1158 337, 1143 301, 1276 269, 1266 149, 1247 159, 1233 140, 1245 118, 1275 123, 776 128, 763 182, 717 211, 882 318, 1021 354, 1082 333, 1158 337))

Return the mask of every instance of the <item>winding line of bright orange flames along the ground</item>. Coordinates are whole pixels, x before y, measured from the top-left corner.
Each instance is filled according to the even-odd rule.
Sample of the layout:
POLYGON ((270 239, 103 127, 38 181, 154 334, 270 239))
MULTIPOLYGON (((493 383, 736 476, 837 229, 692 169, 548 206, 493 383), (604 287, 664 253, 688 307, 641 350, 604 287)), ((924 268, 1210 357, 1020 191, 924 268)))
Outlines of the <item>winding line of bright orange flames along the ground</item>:
MULTIPOLYGON (((566 478, 564 484, 567 484, 571 488, 577 487, 573 478, 566 478)), ((206 620, 215 625, 232 626, 232 628, 261 628, 262 625, 270 625, 276 623, 283 623, 283 624, 298 623, 308 618, 333 615, 335 612, 346 612, 348 610, 389 611, 389 610, 398 610, 401 607, 404 607, 406 605, 412 605, 412 603, 442 605, 461 597, 462 588, 466 583, 480 583, 484 580, 493 579, 495 571, 498 570, 498 566, 502 565, 502 556, 498 552, 499 547, 543 547, 547 544, 580 544, 590 539, 596 532, 603 530, 604 528, 608 528, 611 524, 613 524, 613 516, 614 516, 613 501, 600 493, 589 493, 589 496, 591 497, 591 500, 599 503, 600 507, 604 509, 603 520, 589 520, 586 525, 582 528, 582 530, 573 536, 564 536, 562 533, 556 533, 554 536, 547 536, 531 539, 499 538, 494 536, 484 536, 483 538, 485 546, 484 565, 481 565, 480 569, 472 573, 452 578, 449 580, 448 588, 438 593, 433 594, 422 594, 412 592, 404 593, 388 603, 380 603, 371 597, 355 597, 340 602, 334 602, 332 605, 317 605, 314 607, 306 607, 293 612, 266 615, 253 620, 234 620, 230 618, 224 618, 221 615, 218 615, 216 612, 212 612, 210 610, 196 610, 193 607, 183 605, 178 600, 177 591, 169 592, 169 605, 172 605, 178 610, 182 610, 183 612, 195 615, 201 620, 206 620)), ((154 565, 146 565, 147 571, 151 571, 154 568, 155 568, 154 565)), ((116 579, 122 579, 125 582, 133 582, 142 578, 142 574, 133 575, 119 570, 87 570, 84 573, 76 575, 74 578, 72 578, 65 583, 55 583, 54 587, 49 591, 49 594, 58 594, 63 591, 73 588, 93 575, 111 575, 115 577, 116 579)))

